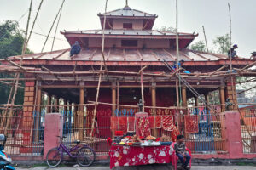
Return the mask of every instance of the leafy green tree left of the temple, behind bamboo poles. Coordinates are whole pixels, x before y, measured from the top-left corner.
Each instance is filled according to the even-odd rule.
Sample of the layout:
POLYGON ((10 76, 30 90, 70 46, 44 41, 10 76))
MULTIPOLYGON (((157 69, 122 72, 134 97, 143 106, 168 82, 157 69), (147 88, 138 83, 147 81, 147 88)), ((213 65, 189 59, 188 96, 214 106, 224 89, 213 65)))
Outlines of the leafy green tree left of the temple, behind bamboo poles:
MULTIPOLYGON (((0 23, 0 59, 6 59, 9 56, 20 55, 24 42, 24 31, 21 31, 16 21, 6 20, 0 23)), ((26 54, 32 52, 27 49, 26 54)), ((0 78, 10 78, 7 73, 0 73, 0 78)), ((20 75, 23 77, 23 75, 20 75)), ((23 82, 22 82, 23 85, 23 82)), ((6 104, 9 98, 10 86, 0 82, 0 103, 6 104)), ((15 104, 23 103, 23 89, 18 89, 15 104)))

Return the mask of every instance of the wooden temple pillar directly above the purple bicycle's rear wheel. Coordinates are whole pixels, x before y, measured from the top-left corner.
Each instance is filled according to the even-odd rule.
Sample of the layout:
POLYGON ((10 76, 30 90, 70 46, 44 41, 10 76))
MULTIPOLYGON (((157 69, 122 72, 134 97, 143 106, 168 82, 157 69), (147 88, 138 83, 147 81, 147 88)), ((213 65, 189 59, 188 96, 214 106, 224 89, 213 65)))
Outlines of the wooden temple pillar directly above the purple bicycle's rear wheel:
POLYGON ((84 140, 84 82, 80 82, 79 96, 79 140, 84 140))

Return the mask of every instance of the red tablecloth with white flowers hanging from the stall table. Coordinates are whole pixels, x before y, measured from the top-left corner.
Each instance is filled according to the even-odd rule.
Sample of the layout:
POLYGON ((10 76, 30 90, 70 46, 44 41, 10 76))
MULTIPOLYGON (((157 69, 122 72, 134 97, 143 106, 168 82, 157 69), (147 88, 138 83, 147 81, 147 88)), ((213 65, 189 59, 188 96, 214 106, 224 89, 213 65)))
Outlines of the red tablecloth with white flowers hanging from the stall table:
POLYGON ((109 151, 110 169, 154 163, 170 163, 170 146, 120 146, 113 145, 109 151))

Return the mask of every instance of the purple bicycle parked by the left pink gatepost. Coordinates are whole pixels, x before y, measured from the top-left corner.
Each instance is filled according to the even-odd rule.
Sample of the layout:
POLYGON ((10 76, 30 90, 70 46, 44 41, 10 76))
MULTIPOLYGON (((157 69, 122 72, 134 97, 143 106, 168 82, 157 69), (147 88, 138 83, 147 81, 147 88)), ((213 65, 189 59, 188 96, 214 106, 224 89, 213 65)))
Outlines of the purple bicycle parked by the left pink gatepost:
POLYGON ((89 167, 95 161, 95 151, 86 144, 79 145, 80 141, 77 140, 74 142, 74 144, 76 144, 75 146, 67 148, 67 146, 63 144, 63 139, 67 137, 57 137, 61 139, 61 144, 58 147, 49 150, 46 156, 46 162, 49 167, 58 167, 63 159, 65 152, 71 158, 76 159, 77 163, 81 167, 89 167))

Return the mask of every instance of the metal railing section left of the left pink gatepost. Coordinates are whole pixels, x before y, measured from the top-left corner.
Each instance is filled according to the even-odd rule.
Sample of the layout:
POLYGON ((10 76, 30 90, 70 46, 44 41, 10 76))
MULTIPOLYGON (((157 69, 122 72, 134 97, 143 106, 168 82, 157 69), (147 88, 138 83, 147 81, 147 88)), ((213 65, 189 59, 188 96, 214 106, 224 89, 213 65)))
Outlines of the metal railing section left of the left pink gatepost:
POLYGON ((0 115, 1 133, 7 136, 5 151, 10 156, 43 156, 44 113, 24 116, 15 110, 12 116, 0 115))

